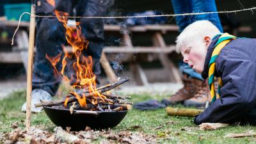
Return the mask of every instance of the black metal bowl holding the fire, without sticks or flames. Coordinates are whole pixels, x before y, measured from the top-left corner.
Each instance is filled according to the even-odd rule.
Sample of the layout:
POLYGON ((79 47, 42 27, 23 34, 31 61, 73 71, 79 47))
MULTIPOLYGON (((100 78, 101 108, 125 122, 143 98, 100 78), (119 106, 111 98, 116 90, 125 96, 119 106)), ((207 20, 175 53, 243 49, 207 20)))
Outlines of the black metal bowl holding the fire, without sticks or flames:
POLYGON ((86 126, 91 129, 107 129, 118 125, 128 111, 82 111, 74 110, 72 114, 68 109, 44 106, 44 111, 50 120, 63 129, 71 127, 71 131, 84 130, 86 126))

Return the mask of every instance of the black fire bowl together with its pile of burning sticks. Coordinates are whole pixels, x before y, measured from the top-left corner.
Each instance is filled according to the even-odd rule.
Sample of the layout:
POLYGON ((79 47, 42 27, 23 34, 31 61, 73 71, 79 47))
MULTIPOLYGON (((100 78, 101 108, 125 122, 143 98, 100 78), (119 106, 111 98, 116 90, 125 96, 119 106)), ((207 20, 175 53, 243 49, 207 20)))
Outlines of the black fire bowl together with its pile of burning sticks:
POLYGON ((71 127, 72 131, 84 130, 86 126, 92 129, 106 129, 115 127, 131 109, 132 102, 126 102, 124 97, 104 92, 116 88, 129 81, 121 79, 113 84, 107 84, 95 91, 102 97, 95 97, 95 92, 69 92, 65 100, 42 102, 36 107, 44 106, 45 113, 50 120, 65 129, 71 127))

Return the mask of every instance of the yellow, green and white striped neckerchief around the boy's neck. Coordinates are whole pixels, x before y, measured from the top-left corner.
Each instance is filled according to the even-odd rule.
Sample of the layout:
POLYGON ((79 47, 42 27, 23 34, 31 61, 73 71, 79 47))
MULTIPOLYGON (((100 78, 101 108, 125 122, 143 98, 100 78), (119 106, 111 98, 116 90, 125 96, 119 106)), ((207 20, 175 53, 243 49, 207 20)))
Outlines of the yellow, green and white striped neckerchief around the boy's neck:
POLYGON ((216 70, 216 59, 218 58, 221 49, 225 47, 225 45, 228 44, 231 40, 236 39, 236 36, 229 35, 228 33, 224 33, 223 35, 220 36, 218 39, 215 48, 212 52, 211 60, 209 63, 209 88, 210 88, 210 95, 212 102, 214 102, 216 99, 220 97, 220 88, 223 86, 221 78, 219 78, 219 84, 218 84, 218 93, 215 92, 214 90, 214 72, 216 70))

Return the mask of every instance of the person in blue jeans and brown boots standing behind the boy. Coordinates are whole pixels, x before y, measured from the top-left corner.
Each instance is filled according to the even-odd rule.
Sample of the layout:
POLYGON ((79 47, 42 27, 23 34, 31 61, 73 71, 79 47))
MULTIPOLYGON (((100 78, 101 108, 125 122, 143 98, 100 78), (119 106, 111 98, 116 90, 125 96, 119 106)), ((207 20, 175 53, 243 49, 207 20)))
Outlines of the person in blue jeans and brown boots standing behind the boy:
MULTIPOLYGON (((172 0, 172 6, 175 14, 182 13, 199 13, 199 12, 217 12, 216 3, 214 0, 172 0)), ((204 15, 186 15, 175 17, 179 31, 182 32, 186 26, 197 20, 209 20, 221 32, 220 18, 218 13, 204 15)), ((187 63, 180 62, 180 71, 184 75, 182 81, 184 86, 168 99, 162 100, 166 105, 175 103, 184 103, 184 106, 203 107, 207 102, 209 91, 207 84, 201 74, 195 72, 187 63)))

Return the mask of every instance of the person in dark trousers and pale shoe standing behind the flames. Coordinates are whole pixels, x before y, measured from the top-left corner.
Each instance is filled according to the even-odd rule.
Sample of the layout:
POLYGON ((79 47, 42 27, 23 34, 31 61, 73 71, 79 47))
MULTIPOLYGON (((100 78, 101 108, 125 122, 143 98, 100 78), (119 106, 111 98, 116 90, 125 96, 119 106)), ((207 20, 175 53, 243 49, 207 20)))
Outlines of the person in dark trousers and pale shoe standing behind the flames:
MULTIPOLYGON (((36 15, 54 15, 54 10, 66 12, 70 16, 97 17, 106 15, 107 9, 113 4, 113 0, 37 0, 36 15)), ((102 19, 76 19, 80 22, 81 31, 89 41, 84 56, 92 56, 93 73, 100 74, 100 55, 104 45, 103 20, 102 19)), ((38 113, 41 108, 35 108, 34 104, 40 100, 51 100, 60 84, 60 77, 54 76, 54 68, 45 58, 54 57, 63 52, 61 45, 67 44, 65 28, 62 22, 56 18, 40 17, 36 19, 36 56, 33 67, 32 81, 32 108, 38 113)), ((61 63, 56 65, 61 68, 61 63)), ((22 105, 22 111, 26 111, 26 102, 22 105)))

